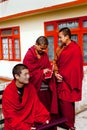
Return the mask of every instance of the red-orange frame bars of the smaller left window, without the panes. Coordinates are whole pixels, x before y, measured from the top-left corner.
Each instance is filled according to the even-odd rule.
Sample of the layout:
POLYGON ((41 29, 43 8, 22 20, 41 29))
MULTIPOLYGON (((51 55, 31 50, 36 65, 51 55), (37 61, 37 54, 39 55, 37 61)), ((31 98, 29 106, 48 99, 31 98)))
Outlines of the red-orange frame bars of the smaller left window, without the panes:
POLYGON ((20 28, 19 26, 16 27, 9 27, 9 28, 1 28, 0 29, 0 60, 8 60, 8 61, 21 61, 21 47, 20 47, 20 28), (12 33, 11 34, 2 34, 2 31, 4 30, 9 30, 11 29, 12 33), (17 29, 18 30, 18 34, 14 34, 14 30, 17 29), (8 59, 4 58, 4 52, 3 52, 3 43, 2 43, 2 38, 7 38, 8 39, 8 59), (11 44, 12 44, 12 48, 9 48, 9 39, 11 39, 11 44), (15 54, 15 46, 14 46, 14 40, 18 39, 19 43, 19 58, 16 58, 16 54, 15 54), (11 54, 10 52, 12 51, 12 58, 10 58, 11 54))

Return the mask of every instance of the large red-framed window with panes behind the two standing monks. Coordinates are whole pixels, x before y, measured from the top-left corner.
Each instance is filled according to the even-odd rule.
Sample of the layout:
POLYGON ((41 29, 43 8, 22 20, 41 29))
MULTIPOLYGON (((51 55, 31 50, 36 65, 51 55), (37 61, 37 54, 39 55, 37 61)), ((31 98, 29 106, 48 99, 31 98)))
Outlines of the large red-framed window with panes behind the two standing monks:
POLYGON ((71 30, 71 39, 81 47, 84 65, 87 65, 87 16, 49 21, 44 23, 45 36, 48 38, 48 55, 52 61, 56 48, 60 46, 58 31, 63 27, 71 30))

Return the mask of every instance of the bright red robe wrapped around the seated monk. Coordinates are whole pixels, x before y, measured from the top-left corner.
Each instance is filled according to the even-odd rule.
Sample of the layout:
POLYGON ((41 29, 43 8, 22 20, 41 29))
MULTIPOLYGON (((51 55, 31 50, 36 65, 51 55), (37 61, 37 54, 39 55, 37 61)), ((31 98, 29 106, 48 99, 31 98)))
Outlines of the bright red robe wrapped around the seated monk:
POLYGON ((14 80, 3 93, 2 110, 5 117, 4 130, 30 130, 34 122, 45 123, 50 118, 49 112, 40 103, 31 83, 24 86, 20 102, 14 80))

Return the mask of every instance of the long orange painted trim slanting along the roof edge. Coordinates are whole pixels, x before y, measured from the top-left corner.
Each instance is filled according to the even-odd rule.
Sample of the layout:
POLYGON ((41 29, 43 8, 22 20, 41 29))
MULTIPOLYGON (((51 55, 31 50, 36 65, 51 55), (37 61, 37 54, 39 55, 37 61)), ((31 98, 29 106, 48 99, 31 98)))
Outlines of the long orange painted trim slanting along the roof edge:
POLYGON ((7 21, 10 19, 17 19, 20 17, 29 16, 29 15, 36 15, 39 13, 45 13, 45 12, 49 12, 49 11, 55 11, 55 10, 60 10, 60 9, 64 9, 64 8, 85 5, 85 4, 87 4, 87 0, 76 0, 73 2, 68 2, 68 3, 64 3, 64 4, 59 4, 59 5, 55 5, 55 6, 50 6, 50 7, 45 7, 45 8, 41 8, 41 9, 30 10, 30 11, 26 11, 26 12, 22 12, 22 13, 18 13, 18 14, 5 16, 5 17, 0 18, 0 22, 7 21))

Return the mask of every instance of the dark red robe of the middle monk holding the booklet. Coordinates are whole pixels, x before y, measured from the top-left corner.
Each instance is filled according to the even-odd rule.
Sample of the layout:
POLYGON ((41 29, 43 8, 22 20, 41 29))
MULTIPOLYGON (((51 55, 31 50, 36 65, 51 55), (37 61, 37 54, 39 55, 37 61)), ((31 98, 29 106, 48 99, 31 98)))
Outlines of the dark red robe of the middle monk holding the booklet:
MULTIPOLYGON (((52 77, 51 79, 44 79, 45 75, 43 74, 43 69, 50 68, 50 62, 49 62, 47 54, 44 52, 41 55, 41 58, 38 59, 36 51, 35 51, 35 46, 32 46, 27 51, 27 53, 24 57, 23 63, 28 66, 29 72, 31 75, 30 80, 36 87, 36 90, 38 93, 40 92, 40 87, 41 87, 42 81, 45 81, 48 84, 48 86, 50 88, 49 93, 51 93, 51 96, 52 96, 51 108, 49 111, 51 113, 57 114, 58 105, 57 105, 55 79, 54 79, 54 77, 52 77)), ((43 92, 41 92, 41 93, 43 93, 43 92)), ((45 102, 47 102, 48 106, 46 106, 45 104, 44 105, 46 106, 46 108, 48 108, 50 106, 49 102, 47 101, 49 96, 48 97, 43 96, 43 97, 40 97, 40 99, 41 98, 43 98, 45 100, 45 102)))

